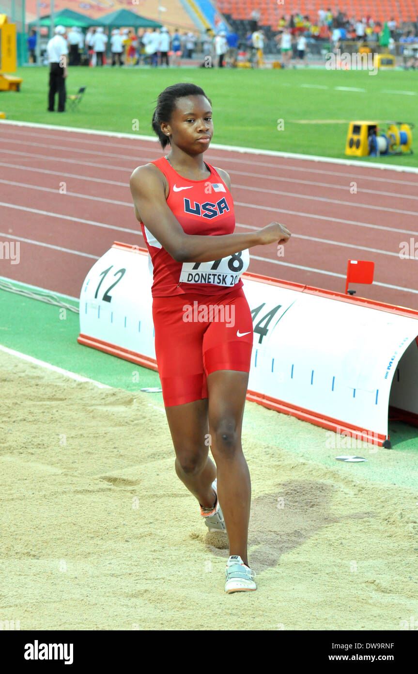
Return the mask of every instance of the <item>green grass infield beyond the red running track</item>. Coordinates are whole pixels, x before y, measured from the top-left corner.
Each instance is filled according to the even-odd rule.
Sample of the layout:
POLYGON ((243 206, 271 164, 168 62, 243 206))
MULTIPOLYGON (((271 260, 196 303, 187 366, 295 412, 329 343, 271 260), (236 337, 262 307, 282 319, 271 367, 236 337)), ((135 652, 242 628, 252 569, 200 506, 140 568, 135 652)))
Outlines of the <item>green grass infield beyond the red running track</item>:
MULTIPOLYGON (((22 67, 17 74, 24 78, 22 90, 0 94, 0 111, 6 113, 7 119, 151 134, 158 94, 175 82, 195 82, 212 100, 213 142, 337 158, 345 157, 347 121, 392 119, 415 124, 418 117, 416 71, 370 75, 368 71, 309 68, 256 71, 78 67, 69 69, 67 92, 76 92, 85 85, 86 94, 78 111, 64 115, 46 111, 47 67, 22 67), (278 119, 283 119, 281 131, 277 130, 278 119), (137 129, 133 129, 135 120, 137 129), (333 122, 315 123, 321 120, 333 122)), ((418 154, 361 161, 418 166, 418 154)))

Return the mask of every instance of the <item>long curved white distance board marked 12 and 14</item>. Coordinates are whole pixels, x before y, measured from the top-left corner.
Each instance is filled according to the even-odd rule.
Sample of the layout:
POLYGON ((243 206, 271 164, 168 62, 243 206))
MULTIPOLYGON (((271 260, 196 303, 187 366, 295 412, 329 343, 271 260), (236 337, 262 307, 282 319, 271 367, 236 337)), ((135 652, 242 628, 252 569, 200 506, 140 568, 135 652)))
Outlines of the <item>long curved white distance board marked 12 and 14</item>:
MULTIPOLYGON (((417 311, 242 278, 254 325, 249 400, 385 446, 389 403, 418 425, 417 311)), ((81 288, 78 341, 157 369, 151 284, 147 251, 114 243, 81 288)))

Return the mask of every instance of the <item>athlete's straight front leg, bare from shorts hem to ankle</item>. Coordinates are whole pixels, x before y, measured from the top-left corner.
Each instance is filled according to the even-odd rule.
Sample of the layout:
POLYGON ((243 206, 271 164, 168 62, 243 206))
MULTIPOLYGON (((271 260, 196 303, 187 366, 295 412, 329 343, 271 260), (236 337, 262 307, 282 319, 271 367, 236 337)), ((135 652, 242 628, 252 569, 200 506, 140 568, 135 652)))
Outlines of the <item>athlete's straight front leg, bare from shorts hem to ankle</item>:
POLYGON ((242 417, 248 373, 218 370, 207 377, 211 452, 217 468, 217 495, 230 541, 230 555, 248 565, 251 482, 242 453, 242 417))

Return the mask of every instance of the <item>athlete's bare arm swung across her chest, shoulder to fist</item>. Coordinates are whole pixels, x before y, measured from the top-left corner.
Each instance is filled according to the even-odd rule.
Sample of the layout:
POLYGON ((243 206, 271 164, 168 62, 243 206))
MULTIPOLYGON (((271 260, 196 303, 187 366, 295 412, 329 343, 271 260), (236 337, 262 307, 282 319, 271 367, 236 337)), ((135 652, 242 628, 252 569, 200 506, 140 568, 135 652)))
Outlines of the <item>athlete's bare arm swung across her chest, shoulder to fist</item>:
POLYGON ((164 176, 156 166, 145 164, 135 168, 129 186, 136 217, 176 262, 211 262, 252 246, 274 241, 285 243, 290 237, 289 231, 277 222, 244 234, 189 235, 167 206, 164 176))

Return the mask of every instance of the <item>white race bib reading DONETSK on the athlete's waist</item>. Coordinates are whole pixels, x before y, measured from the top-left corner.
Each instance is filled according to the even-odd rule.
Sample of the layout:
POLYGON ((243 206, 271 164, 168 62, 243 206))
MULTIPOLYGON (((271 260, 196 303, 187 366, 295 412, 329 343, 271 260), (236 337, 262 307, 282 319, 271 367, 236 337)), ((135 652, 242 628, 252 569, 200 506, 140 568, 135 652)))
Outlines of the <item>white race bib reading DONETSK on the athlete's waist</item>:
POLYGON ((240 253, 215 259, 213 262, 183 262, 180 283, 212 283, 215 286, 234 286, 242 272, 248 269, 248 248, 240 253))

